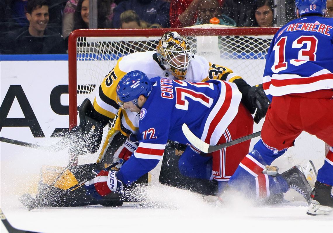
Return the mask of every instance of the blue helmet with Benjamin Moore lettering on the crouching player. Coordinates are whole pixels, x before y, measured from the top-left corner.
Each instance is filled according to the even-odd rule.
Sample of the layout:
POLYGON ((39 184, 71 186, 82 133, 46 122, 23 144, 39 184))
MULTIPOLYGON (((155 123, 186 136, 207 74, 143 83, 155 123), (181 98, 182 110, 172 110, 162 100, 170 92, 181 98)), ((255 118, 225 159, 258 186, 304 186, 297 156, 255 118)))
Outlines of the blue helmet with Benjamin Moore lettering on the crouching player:
POLYGON ((117 86, 117 102, 122 108, 125 102, 132 102, 139 107, 137 105, 139 96, 148 97, 152 89, 152 84, 144 72, 139 70, 128 72, 117 86))

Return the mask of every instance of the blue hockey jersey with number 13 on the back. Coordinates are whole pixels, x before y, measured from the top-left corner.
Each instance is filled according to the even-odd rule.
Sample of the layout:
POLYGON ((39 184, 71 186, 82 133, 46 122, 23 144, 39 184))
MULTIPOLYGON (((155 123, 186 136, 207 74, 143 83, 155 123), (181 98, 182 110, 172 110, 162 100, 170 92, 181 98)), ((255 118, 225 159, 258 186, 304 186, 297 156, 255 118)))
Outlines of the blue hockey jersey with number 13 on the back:
POLYGON ((268 50, 263 88, 281 96, 333 88, 333 18, 306 16, 283 26, 268 50))

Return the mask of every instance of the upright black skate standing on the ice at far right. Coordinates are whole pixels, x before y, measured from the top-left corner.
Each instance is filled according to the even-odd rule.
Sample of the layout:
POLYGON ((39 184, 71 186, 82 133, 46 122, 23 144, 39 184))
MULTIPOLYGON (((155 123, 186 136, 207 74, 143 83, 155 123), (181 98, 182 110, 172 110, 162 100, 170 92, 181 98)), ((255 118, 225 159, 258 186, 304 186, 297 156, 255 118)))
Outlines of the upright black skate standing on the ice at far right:
POLYGON ((308 215, 327 215, 333 209, 333 187, 316 181, 311 193, 311 204, 308 215))

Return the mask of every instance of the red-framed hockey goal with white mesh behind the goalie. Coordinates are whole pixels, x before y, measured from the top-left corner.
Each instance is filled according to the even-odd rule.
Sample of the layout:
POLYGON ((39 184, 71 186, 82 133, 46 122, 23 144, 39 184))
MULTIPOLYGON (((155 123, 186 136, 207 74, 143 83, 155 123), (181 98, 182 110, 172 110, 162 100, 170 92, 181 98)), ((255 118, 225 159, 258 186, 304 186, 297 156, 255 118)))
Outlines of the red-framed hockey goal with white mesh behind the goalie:
MULTIPOLYGON (((262 83, 265 55, 278 28, 183 28, 197 55, 226 66, 250 85, 262 83)), ((170 29, 83 29, 69 37, 70 127, 77 125, 77 109, 85 98, 93 101, 103 78, 117 60, 130 53, 155 50, 161 36, 170 29)), ((255 125, 254 131, 260 130, 255 125)), ((251 146, 258 139, 252 140, 251 146)), ((281 158, 280 169, 305 164, 312 159, 318 169, 323 163, 324 143, 306 133, 296 140, 296 148, 281 158), (315 158, 315 159, 314 159, 315 158)))

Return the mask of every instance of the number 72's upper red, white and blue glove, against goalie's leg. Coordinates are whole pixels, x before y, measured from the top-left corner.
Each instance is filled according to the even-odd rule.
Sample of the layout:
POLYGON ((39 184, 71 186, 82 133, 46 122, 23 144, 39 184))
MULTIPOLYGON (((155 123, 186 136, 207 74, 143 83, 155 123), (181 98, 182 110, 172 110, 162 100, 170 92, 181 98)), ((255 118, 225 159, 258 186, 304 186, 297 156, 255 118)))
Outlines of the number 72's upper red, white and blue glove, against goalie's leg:
MULTIPOLYGON (((117 162, 119 159, 124 159, 127 161, 133 152, 138 149, 139 141, 137 135, 131 133, 129 138, 123 143, 121 147, 115 152, 113 156, 113 162, 117 162)), ((117 168, 120 168, 122 164, 117 165, 117 168)))

